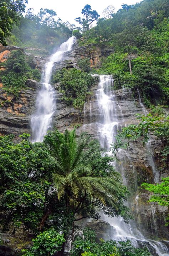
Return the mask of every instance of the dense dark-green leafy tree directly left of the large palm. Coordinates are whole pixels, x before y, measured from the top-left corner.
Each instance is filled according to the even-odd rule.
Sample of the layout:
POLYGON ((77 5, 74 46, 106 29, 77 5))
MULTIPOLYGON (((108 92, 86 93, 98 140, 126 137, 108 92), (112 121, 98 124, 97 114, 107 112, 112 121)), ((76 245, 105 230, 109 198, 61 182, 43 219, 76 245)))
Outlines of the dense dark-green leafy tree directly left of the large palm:
POLYGON ((43 144, 32 144, 29 135, 0 137, 0 228, 23 227, 39 232, 44 208, 50 200, 48 189, 53 164, 43 144))

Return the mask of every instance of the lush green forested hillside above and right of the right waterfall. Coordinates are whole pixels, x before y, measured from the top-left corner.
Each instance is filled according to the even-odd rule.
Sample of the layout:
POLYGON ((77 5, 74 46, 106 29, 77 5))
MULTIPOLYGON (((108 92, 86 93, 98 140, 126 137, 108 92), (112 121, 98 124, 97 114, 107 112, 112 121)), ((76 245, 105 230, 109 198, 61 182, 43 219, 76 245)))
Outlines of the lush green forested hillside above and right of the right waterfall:
MULTIPOLYGON (((108 10, 107 10, 108 14, 108 10)), ((169 98, 169 3, 145 0, 123 5, 117 13, 100 18, 86 30, 80 45, 114 47, 115 53, 103 57, 98 74, 113 74, 114 88, 137 88, 147 107, 168 104, 169 98), (111 18, 110 18, 111 17, 111 18)))

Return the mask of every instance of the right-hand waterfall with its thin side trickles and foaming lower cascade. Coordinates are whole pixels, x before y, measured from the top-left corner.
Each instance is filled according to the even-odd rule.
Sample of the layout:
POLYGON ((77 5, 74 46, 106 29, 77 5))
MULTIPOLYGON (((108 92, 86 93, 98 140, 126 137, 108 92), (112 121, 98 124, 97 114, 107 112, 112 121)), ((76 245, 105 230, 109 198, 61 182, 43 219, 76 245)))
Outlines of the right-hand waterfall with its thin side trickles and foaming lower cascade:
MULTIPOLYGON (((130 90, 129 90, 130 91, 130 90)), ((111 75, 101 75, 99 76, 99 84, 98 84, 98 90, 96 92, 96 98, 97 98, 97 124, 94 127, 97 127, 97 134, 98 139, 100 140, 101 146, 104 149, 107 149, 107 154, 110 154, 109 148, 111 147, 111 144, 116 141, 116 134, 117 130, 121 129, 122 126, 125 126, 124 118, 123 118, 123 112, 122 109, 116 100, 116 96, 113 95, 113 77, 111 75)), ((125 94, 125 89, 123 88, 123 92, 125 94)), ((126 98, 126 96, 125 96, 126 98)), ((141 99, 139 101, 141 104, 141 108, 143 110, 143 114, 147 114, 148 111, 144 107, 143 103, 141 102, 141 99), (147 111, 146 113, 144 111, 147 111)), ((91 102, 89 103, 90 110, 91 102)), ((84 109, 84 115, 87 113, 86 106, 84 109)), ((88 114, 88 116, 91 116, 91 113, 88 114)), ((84 120, 85 120, 84 116, 84 120)), ((88 126, 91 126, 92 124, 88 124, 88 126)), ((85 130, 86 125, 84 125, 85 130)), ((148 152, 147 161, 148 164, 153 169, 153 174, 155 177, 159 178, 159 172, 155 168, 155 163, 153 159, 153 152, 150 144, 150 140, 146 145, 148 152), (156 173, 154 173, 156 172, 156 173)), ((130 155, 127 153, 127 151, 120 149, 118 152, 118 159, 120 159, 121 164, 115 163, 116 169, 121 173, 123 178, 124 185, 127 184, 127 173, 125 173, 124 164, 125 161, 130 161, 130 155)), ((131 163, 131 168, 133 168, 133 165, 131 163)), ((134 186, 135 181, 134 181, 134 186)), ((139 195, 135 198, 135 207, 136 211, 138 212, 138 199, 139 195)), ((127 206, 131 206, 131 202, 127 202, 127 206)), ((151 205, 151 213, 152 216, 155 214, 154 206, 151 205)), ((139 214, 139 212, 138 212, 139 214)), ((130 240, 132 241, 132 244, 136 247, 144 247, 147 246, 149 251, 154 256, 162 256, 162 255, 169 255, 169 248, 160 241, 152 240, 146 236, 144 236, 143 229, 140 226, 136 226, 136 223, 134 220, 130 221, 129 224, 124 223, 122 218, 109 218, 108 216, 101 214, 102 219, 114 228, 114 232, 111 234, 110 239, 116 240, 116 241, 126 241, 130 240)), ((152 225, 156 225, 155 218, 151 221, 152 225)), ((156 235, 156 234, 155 234, 156 235)))

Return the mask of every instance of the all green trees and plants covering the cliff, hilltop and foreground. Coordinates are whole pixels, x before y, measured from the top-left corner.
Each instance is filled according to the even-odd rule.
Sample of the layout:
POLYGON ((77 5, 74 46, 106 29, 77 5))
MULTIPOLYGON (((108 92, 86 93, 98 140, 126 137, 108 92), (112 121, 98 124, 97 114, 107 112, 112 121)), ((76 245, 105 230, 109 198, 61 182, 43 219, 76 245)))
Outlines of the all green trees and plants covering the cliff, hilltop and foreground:
MULTIPOLYGON (((29 9, 23 17, 18 11, 24 11, 24 6, 14 10, 11 20, 11 1, 5 2, 0 5, 0 15, 4 10, 8 15, 4 30, 0 23, 0 42, 4 45, 18 17, 21 23, 13 26, 7 42, 27 47, 29 52, 47 55, 53 45, 58 47, 72 33, 77 35, 80 46, 94 44, 115 48, 115 53, 103 57, 101 67, 92 72, 113 74, 114 89, 126 87, 135 94, 138 90, 151 114, 139 117, 140 124, 123 128, 113 150, 128 147, 128 140, 140 137, 144 144, 151 131, 163 142, 160 156, 162 167, 166 168, 168 117, 162 107, 152 103, 168 104, 168 1, 144 0, 135 5, 123 5, 116 14, 109 6, 104 10, 106 18, 101 19, 96 10, 86 5, 82 10, 84 18, 76 18, 82 28, 63 23, 59 18, 56 20, 56 12, 49 9, 40 9, 37 15, 29 9), (95 20, 97 25, 89 29, 95 20)), ((1 65, 5 68, 1 71, 2 90, 17 96, 26 88, 28 78, 40 79, 39 71, 32 69, 29 62, 21 51, 11 52, 1 65)), ((82 71, 63 68, 53 75, 53 82, 58 83, 57 88, 62 93, 60 100, 82 110, 97 77, 89 74, 89 58, 79 60, 77 65, 82 71)), ((129 192, 112 166, 113 157, 103 156, 97 140, 86 133, 77 137, 75 130, 66 130, 64 134, 58 130, 49 132, 42 143, 31 143, 27 134, 20 137, 20 143, 13 142, 13 135, 0 137, 0 228, 3 232, 23 228, 37 235, 31 249, 22 251, 23 255, 52 255, 56 251, 63 255, 68 237, 74 240, 77 221, 99 219, 100 211, 109 217, 121 216, 128 222, 131 216, 124 201, 129 192)), ((154 193, 150 202, 168 206, 168 178, 157 185, 144 183, 143 187, 154 193)), ((75 238, 72 256, 149 255, 146 249, 134 248, 130 241, 96 243, 93 231, 85 230, 83 235, 84 238, 75 238)))

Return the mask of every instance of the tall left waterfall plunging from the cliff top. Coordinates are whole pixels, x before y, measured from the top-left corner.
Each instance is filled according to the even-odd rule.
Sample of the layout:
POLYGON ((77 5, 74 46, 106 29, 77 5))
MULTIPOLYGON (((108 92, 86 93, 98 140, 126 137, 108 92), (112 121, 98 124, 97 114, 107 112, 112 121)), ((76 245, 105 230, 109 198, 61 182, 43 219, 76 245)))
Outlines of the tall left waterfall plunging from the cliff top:
POLYGON ((36 112, 31 117, 32 142, 41 142, 51 128, 52 116, 56 110, 55 90, 50 84, 52 68, 55 62, 61 61, 63 53, 71 50, 76 37, 72 36, 61 44, 45 64, 41 77, 41 88, 36 98, 36 112))

